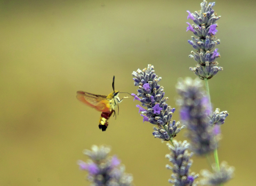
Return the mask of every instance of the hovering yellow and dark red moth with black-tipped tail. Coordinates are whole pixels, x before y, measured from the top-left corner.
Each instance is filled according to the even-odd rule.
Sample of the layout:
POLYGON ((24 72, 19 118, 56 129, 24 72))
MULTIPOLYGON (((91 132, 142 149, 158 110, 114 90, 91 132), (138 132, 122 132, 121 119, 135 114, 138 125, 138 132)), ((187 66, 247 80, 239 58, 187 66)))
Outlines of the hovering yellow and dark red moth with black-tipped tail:
MULTIPOLYGON (((84 91, 77 91, 76 98, 83 102, 86 105, 89 105, 95 108, 97 111, 101 112, 100 121, 99 121, 99 129, 102 131, 106 131, 108 127, 108 119, 114 113, 116 116, 116 107, 118 107, 119 112, 119 103, 123 101, 123 98, 120 99, 118 97, 119 91, 115 90, 115 75, 113 77, 112 82, 113 92, 111 92, 108 96, 92 94, 84 91)), ((122 92, 123 93, 123 92, 122 92)), ((125 96, 127 98, 129 96, 125 96)))

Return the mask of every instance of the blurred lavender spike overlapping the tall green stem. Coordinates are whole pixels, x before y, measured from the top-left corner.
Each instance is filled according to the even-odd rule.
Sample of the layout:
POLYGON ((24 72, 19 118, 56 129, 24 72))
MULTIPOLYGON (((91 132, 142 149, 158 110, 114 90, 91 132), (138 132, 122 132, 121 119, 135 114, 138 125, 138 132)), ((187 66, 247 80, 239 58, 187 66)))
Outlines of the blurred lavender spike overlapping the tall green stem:
POLYGON ((213 128, 209 125, 211 108, 202 90, 201 81, 186 78, 177 84, 180 98, 180 117, 187 126, 188 138, 191 140, 191 149, 197 155, 211 153, 217 148, 217 140, 214 139, 213 128))

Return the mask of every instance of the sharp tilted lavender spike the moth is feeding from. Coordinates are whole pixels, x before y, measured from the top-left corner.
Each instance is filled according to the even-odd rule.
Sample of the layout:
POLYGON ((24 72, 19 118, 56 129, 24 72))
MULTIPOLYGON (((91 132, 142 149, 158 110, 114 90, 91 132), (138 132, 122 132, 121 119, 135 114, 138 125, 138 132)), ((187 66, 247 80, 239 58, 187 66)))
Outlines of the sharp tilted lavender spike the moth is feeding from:
POLYGON ((132 75, 134 85, 139 86, 137 95, 132 95, 138 97, 137 100, 141 102, 141 106, 145 107, 137 105, 139 112, 141 111, 143 122, 148 121, 158 127, 158 129, 154 127, 153 135, 155 138, 166 141, 174 138, 185 126, 178 128, 180 123, 172 121, 175 108, 165 103, 168 98, 164 97, 164 88, 158 84, 162 78, 157 77, 153 65, 148 65, 142 71, 138 69, 132 75))

